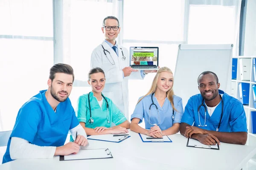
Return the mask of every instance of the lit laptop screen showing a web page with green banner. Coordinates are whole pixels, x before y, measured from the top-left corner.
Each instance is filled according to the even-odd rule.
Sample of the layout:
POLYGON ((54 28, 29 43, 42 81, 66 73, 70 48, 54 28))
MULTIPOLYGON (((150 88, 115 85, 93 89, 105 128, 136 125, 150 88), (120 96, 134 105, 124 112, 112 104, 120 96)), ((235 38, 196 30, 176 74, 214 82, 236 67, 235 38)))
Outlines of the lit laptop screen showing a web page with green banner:
POLYGON ((158 65, 158 47, 130 47, 130 65, 158 65))

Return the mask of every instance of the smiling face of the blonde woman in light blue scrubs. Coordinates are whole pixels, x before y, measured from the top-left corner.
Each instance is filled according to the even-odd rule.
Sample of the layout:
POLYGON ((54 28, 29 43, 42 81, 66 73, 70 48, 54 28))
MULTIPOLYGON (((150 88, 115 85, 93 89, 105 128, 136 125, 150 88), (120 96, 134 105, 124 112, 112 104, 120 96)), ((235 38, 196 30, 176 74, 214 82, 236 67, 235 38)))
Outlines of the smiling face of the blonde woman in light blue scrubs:
POLYGON ((167 92, 172 88, 173 74, 167 71, 163 71, 159 74, 157 79, 157 89, 167 92))

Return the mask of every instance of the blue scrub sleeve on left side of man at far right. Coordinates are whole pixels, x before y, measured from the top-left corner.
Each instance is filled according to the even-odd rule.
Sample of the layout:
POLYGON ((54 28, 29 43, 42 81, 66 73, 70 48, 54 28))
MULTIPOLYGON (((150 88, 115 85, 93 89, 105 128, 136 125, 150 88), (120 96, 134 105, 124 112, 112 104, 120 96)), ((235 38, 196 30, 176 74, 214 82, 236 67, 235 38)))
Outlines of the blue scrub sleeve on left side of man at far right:
POLYGON ((190 97, 188 103, 186 104, 185 111, 181 119, 181 123, 186 123, 192 126, 194 122, 195 122, 195 117, 194 117, 194 110, 193 110, 193 98, 190 97))

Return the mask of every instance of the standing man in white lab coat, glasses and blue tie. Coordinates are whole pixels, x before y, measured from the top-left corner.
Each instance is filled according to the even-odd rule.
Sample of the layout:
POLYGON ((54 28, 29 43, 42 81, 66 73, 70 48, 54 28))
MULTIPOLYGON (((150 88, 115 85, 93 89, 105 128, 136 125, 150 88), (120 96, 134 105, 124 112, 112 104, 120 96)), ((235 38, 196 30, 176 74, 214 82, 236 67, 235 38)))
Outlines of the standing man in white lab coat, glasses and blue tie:
POLYGON ((116 17, 108 16, 103 20, 102 33, 105 34, 105 40, 93 50, 91 68, 103 69, 106 84, 102 92, 129 119, 128 79, 144 79, 146 74, 157 71, 138 71, 129 67, 128 50, 116 42, 119 32, 119 20, 116 17))

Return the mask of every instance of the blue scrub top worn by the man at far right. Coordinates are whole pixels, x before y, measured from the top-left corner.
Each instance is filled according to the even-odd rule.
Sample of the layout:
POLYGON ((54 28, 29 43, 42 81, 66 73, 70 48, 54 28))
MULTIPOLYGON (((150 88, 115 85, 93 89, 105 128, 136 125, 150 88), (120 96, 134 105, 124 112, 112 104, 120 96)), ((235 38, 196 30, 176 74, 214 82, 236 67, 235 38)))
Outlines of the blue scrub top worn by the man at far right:
MULTIPOLYGON (((242 103, 228 94, 224 93, 224 91, 218 90, 219 94, 222 95, 223 100, 223 116, 221 119, 221 103, 215 108, 212 116, 209 116, 209 113, 206 109, 206 125, 204 127, 200 127, 205 130, 213 130, 216 131, 219 121, 221 119, 221 125, 219 128, 219 132, 247 132, 247 124, 246 124, 246 115, 244 112, 244 107, 242 103)), ((198 106, 202 104, 203 97, 201 94, 196 94, 190 97, 184 111, 184 115, 181 119, 181 122, 187 123, 189 125, 193 125, 199 127, 199 119, 198 119, 198 106)), ((204 102, 205 105, 205 102, 204 102)), ((201 125, 204 125, 204 107, 200 107, 200 122, 201 125)))

